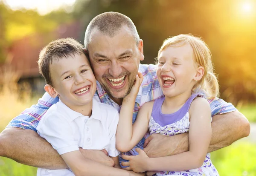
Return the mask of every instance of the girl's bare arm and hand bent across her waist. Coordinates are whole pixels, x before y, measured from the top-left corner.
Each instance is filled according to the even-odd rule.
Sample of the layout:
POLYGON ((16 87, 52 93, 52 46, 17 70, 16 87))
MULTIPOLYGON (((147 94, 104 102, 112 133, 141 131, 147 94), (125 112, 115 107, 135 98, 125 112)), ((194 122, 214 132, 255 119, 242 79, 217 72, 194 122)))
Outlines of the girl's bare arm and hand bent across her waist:
POLYGON ((143 150, 138 156, 123 156, 130 160, 127 170, 144 172, 145 170, 184 171, 203 165, 211 140, 211 110, 204 98, 196 98, 189 109, 189 151, 173 156, 149 158, 143 150))

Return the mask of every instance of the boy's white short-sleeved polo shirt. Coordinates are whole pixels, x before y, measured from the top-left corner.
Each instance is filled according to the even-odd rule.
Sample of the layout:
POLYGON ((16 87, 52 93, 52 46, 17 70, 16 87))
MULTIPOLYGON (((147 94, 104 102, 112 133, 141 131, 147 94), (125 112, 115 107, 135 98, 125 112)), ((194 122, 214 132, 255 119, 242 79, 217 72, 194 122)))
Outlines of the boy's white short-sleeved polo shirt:
MULTIPOLYGON (((116 150, 116 127, 118 111, 93 99, 92 115, 89 118, 71 110, 59 101, 49 108, 37 126, 38 134, 45 138, 57 152, 64 153, 83 149, 108 151, 109 156, 118 156, 116 150)), ((38 176, 73 176, 68 169, 48 170, 38 168, 38 176)))

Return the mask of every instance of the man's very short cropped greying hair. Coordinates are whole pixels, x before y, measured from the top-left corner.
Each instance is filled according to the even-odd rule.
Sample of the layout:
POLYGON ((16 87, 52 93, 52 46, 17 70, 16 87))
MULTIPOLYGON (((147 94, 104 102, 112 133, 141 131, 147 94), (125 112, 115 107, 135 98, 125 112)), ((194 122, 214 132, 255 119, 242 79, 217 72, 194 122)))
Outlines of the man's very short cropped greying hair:
POLYGON ((123 25, 128 26, 134 40, 138 45, 140 36, 132 20, 124 14, 118 12, 105 12, 94 17, 87 26, 84 36, 84 47, 86 50, 88 50, 90 35, 94 28, 97 28, 100 32, 102 32, 102 34, 112 38, 119 32, 119 29, 123 25))

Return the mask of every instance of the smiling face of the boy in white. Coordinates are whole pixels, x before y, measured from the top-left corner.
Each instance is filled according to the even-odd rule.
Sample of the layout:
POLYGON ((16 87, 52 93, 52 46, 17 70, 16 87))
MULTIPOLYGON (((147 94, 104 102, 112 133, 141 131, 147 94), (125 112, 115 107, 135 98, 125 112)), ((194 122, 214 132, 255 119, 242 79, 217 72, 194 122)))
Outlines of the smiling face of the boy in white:
POLYGON ((68 107, 77 107, 92 101, 96 79, 86 56, 75 54, 50 64, 55 92, 68 107))

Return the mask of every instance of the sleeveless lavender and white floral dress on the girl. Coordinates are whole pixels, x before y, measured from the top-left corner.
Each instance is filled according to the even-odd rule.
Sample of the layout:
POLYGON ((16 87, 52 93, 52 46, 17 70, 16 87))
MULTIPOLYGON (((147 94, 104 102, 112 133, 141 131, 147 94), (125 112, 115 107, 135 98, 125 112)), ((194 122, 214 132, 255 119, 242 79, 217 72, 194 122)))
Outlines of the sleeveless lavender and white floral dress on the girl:
MULTIPOLYGON (((168 136, 173 136, 181 133, 186 133, 189 131, 189 107, 192 101, 196 97, 202 97, 203 95, 192 94, 191 97, 186 101, 180 110, 172 114, 163 114, 161 107, 164 101, 163 98, 159 98, 154 101, 151 118, 148 124, 149 133, 154 134, 163 134, 168 136)), ((183 172, 171 172, 171 171, 162 171, 156 173, 156 176, 173 176, 173 175, 182 175, 182 176, 219 176, 218 171, 213 166, 210 160, 210 153, 207 153, 205 157, 204 164, 197 168, 186 170, 183 172)))

